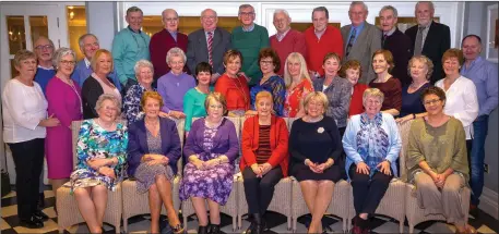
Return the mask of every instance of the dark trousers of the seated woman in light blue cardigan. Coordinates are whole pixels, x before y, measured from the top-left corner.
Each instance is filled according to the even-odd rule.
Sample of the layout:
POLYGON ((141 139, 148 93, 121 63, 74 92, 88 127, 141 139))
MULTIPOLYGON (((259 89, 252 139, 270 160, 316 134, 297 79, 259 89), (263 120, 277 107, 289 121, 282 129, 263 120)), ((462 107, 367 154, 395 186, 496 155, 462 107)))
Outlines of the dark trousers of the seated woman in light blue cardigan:
POLYGON ((357 165, 352 164, 348 174, 354 188, 354 208, 357 214, 368 213, 372 215, 381 202, 384 193, 387 193, 392 175, 385 175, 382 172, 375 172, 372 177, 367 174, 357 173, 357 165))

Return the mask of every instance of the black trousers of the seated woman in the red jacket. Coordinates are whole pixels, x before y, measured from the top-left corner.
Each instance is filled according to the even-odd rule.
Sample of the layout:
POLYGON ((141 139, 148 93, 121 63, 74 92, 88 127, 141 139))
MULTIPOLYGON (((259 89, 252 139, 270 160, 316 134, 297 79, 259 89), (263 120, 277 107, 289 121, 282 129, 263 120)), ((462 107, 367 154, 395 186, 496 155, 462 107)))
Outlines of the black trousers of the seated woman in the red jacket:
POLYGON ((283 170, 280 165, 269 171, 263 177, 257 177, 253 170, 247 167, 242 171, 245 178, 245 195, 248 202, 249 213, 263 215, 274 196, 275 185, 283 178, 283 170))

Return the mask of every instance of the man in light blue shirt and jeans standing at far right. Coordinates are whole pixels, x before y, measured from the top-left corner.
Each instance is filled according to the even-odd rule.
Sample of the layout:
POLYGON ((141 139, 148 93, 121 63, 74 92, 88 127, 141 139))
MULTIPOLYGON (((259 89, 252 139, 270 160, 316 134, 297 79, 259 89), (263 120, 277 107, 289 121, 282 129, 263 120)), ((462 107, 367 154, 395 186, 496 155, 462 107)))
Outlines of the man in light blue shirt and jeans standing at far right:
POLYGON ((478 116, 473 122, 473 146, 470 153, 470 185, 472 187, 470 212, 475 215, 484 188, 484 146, 487 138, 488 115, 498 104, 498 69, 497 64, 480 57, 480 37, 467 35, 461 45, 465 61, 461 67, 461 75, 472 79, 475 84, 479 103, 478 116))

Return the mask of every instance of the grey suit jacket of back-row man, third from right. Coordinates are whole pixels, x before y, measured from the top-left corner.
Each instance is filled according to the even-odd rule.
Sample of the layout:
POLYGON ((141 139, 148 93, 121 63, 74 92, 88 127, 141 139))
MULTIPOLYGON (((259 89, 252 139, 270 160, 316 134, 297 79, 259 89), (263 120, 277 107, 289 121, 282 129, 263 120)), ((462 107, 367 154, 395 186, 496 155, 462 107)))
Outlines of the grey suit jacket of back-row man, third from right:
MULTIPOLYGON (((346 56, 346 45, 348 45, 348 35, 351 34, 352 24, 343 26, 343 49, 346 56)), ((372 53, 381 49, 381 30, 367 22, 364 22, 364 29, 358 35, 355 44, 351 48, 348 57, 343 59, 343 62, 348 60, 358 60, 363 67, 363 77, 359 78, 359 83, 369 84, 370 81, 376 78, 375 70, 372 69, 372 53)))

